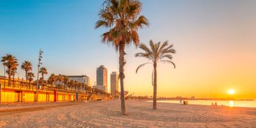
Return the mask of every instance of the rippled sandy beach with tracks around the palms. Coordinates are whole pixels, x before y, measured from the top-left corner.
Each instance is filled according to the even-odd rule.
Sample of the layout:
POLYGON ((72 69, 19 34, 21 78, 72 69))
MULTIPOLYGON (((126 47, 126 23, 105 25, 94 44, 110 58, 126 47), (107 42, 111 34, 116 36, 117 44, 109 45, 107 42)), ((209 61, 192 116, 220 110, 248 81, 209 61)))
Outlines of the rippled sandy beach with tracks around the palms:
POLYGON ((256 108, 230 108, 128 100, 0 105, 0 127, 256 127, 256 108))

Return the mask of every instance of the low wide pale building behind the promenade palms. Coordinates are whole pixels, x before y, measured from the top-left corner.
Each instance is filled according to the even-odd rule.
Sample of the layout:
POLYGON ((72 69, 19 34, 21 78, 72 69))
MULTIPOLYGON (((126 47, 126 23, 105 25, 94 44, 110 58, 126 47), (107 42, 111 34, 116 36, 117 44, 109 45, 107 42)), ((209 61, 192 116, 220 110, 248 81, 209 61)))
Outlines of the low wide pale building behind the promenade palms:
POLYGON ((68 76, 68 79, 70 81, 76 81, 77 83, 83 83, 83 84, 86 84, 88 86, 92 86, 92 80, 90 79, 90 77, 88 77, 86 75, 68 76))

